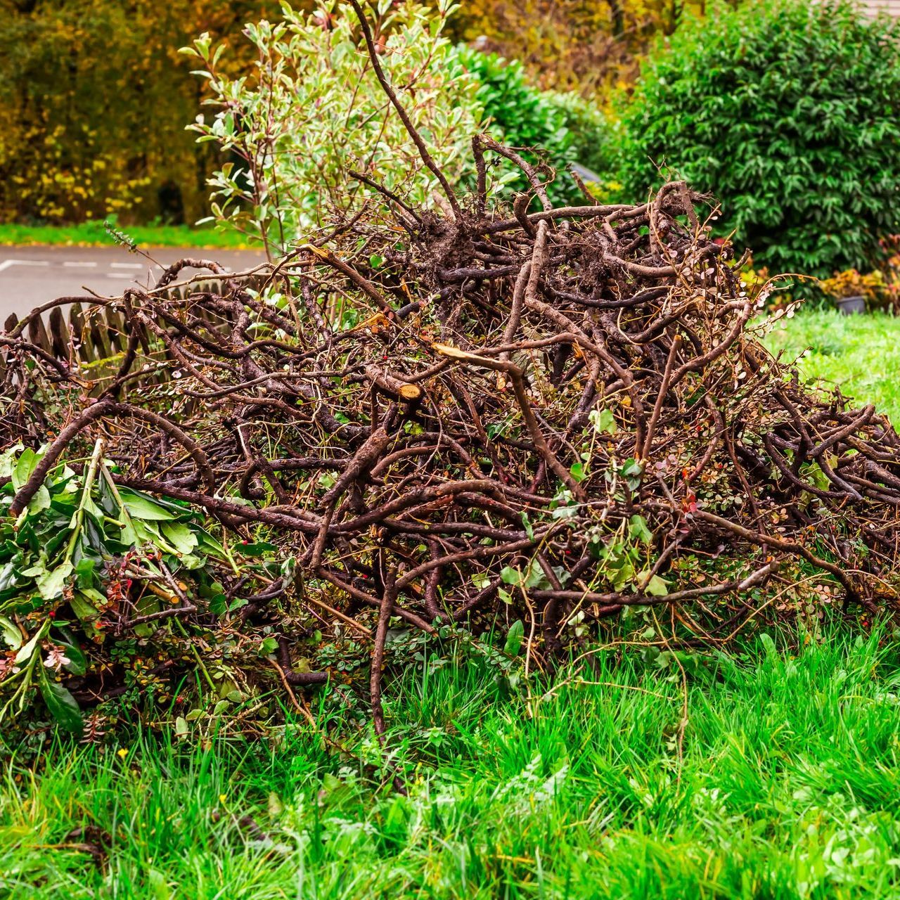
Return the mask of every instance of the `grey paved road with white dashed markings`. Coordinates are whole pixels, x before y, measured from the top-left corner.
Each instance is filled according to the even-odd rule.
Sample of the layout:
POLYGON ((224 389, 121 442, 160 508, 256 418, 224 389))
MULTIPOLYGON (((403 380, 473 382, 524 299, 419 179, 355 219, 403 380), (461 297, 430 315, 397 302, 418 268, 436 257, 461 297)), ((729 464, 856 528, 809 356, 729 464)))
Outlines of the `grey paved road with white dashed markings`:
MULTIPOLYGON (((212 259, 230 272, 265 260, 256 250, 192 250, 155 247, 147 251, 162 266, 176 259, 212 259)), ((162 271, 121 247, 8 247, 0 244, 0 325, 14 312, 24 315, 49 300, 84 293, 88 287, 109 296, 128 284, 148 286, 162 271)))

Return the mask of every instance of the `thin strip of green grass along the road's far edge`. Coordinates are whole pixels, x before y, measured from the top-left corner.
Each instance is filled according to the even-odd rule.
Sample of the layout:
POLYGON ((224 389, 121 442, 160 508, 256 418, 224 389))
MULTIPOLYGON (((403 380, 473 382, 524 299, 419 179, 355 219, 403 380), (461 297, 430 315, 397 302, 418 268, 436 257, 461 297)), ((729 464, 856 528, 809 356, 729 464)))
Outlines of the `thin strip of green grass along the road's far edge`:
MULTIPOLYGON (((248 246, 246 238, 232 230, 217 231, 188 225, 117 225, 116 228, 141 247, 243 249, 248 246)), ((102 221, 90 221, 81 225, 0 224, 0 244, 112 247, 115 241, 103 228, 102 221)))

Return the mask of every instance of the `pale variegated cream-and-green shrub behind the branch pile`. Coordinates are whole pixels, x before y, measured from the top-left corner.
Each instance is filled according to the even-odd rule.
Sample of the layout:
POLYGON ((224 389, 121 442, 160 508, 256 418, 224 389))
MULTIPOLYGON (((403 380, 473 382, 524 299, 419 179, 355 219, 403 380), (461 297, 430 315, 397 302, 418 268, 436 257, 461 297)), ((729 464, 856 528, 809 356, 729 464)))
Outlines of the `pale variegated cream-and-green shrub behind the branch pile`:
MULTIPOLYGON (((386 76, 451 182, 463 174, 481 108, 441 31, 452 10, 407 2, 378 4, 375 40, 386 76)), ((202 62, 219 111, 193 129, 238 158, 213 175, 215 218, 283 251, 309 229, 346 220, 379 194, 346 191, 362 172, 406 202, 430 202, 437 186, 391 108, 362 44, 349 4, 306 15, 283 6, 284 21, 247 25, 257 49, 252 77, 229 76, 223 48, 208 35, 184 52, 202 62)))

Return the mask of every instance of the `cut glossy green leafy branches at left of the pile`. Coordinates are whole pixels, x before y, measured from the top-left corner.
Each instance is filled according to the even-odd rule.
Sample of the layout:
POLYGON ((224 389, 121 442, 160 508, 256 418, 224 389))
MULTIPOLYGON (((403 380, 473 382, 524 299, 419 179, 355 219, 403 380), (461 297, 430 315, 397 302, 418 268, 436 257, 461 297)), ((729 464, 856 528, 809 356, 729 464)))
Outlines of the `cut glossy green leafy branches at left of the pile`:
MULTIPOLYGON (((63 681, 105 668, 99 647, 108 626, 145 617, 129 636, 148 638, 168 626, 156 617, 191 590, 184 573, 202 578, 210 558, 230 559, 193 510, 117 487, 101 449, 84 473, 56 467, 18 518, 0 518, 0 721, 37 690, 58 725, 80 731, 63 681)), ((0 503, 11 502, 40 457, 22 445, 0 455, 0 503)), ((112 643, 122 636, 113 628, 112 643)))

